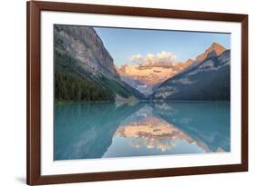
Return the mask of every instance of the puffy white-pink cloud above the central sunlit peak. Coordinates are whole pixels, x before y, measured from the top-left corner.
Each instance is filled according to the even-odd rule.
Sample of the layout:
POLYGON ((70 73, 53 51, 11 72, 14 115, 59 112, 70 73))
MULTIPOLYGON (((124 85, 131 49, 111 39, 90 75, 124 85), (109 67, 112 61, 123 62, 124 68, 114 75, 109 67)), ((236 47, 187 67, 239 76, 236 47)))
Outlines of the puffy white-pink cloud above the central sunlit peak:
POLYGON ((130 62, 141 63, 157 63, 157 62, 176 62, 177 56, 170 52, 162 51, 158 54, 147 54, 143 56, 141 54, 134 54, 130 57, 130 62))

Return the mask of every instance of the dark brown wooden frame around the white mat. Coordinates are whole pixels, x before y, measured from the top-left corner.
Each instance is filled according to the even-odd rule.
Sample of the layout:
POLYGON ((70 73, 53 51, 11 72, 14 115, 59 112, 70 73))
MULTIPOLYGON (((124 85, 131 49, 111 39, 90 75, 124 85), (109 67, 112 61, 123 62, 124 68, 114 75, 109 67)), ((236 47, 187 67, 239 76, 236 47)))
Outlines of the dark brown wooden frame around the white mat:
POLYGON ((26 182, 30 185, 81 181, 109 181, 191 174, 248 171, 248 15, 141 7, 84 5, 31 1, 26 4, 26 182), (40 173, 40 12, 62 11, 103 15, 136 15, 241 23, 241 164, 138 171, 109 171, 65 175, 40 173))

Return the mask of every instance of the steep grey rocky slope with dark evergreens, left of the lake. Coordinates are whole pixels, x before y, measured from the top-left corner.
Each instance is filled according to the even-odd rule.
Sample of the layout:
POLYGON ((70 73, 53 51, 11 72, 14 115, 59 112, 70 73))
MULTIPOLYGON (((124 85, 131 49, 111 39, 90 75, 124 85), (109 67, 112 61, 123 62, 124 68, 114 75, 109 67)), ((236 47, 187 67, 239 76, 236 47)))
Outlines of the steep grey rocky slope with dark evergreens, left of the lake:
POLYGON ((143 99, 124 83, 96 31, 89 26, 54 26, 56 100, 143 99))

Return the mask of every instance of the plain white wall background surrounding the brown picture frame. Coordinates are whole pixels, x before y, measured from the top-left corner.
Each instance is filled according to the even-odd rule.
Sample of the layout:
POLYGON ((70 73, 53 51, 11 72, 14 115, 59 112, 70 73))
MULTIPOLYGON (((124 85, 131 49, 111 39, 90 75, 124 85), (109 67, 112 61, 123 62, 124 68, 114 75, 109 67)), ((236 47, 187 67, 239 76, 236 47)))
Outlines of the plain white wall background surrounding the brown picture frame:
MULTIPOLYGON (((249 14, 249 172, 66 185, 255 185, 256 181, 256 5, 253 0, 66 0, 67 2, 128 5, 249 14)), ((1 1, 0 11, 0 185, 26 183, 26 0, 1 1)))

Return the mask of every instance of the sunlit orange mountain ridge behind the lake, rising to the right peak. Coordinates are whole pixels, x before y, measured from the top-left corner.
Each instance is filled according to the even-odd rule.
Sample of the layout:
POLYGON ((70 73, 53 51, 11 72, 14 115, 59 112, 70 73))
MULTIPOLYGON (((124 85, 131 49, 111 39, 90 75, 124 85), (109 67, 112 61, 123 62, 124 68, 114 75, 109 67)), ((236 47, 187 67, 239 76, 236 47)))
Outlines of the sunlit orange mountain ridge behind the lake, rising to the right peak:
POLYGON ((116 67, 121 79, 140 93, 150 95, 160 83, 165 82, 176 74, 183 73, 193 66, 197 66, 205 59, 220 55, 226 48, 212 43, 203 53, 194 59, 184 62, 144 62, 140 64, 124 64, 116 67))

